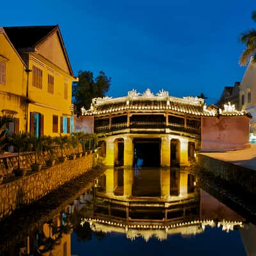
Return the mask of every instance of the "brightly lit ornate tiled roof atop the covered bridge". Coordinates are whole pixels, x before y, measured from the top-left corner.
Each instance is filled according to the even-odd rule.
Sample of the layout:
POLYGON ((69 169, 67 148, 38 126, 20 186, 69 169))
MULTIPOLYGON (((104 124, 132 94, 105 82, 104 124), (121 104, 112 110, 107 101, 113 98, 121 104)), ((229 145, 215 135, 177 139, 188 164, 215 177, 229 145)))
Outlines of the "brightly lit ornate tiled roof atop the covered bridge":
MULTIPOLYGON (((204 99, 198 97, 171 97, 168 92, 161 91, 154 95, 149 89, 143 94, 136 90, 128 92, 126 97, 112 98, 104 97, 92 100, 90 109, 81 109, 82 115, 104 115, 107 113, 122 113, 124 111, 161 113, 170 111, 173 113, 190 114, 194 116, 215 116, 217 111, 214 108, 206 108, 204 99)), ((231 115, 243 115, 234 111, 231 115)), ((224 115, 224 113, 223 113, 224 115)))

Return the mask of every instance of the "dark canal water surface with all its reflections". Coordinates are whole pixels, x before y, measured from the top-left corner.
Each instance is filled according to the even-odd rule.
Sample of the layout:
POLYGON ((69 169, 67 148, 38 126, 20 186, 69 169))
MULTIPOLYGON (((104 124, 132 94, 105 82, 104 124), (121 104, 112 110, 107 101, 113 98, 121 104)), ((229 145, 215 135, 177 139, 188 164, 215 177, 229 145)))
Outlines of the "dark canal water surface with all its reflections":
POLYGON ((255 255, 255 220, 214 189, 178 168, 108 169, 35 223, 16 215, 0 255, 255 255))

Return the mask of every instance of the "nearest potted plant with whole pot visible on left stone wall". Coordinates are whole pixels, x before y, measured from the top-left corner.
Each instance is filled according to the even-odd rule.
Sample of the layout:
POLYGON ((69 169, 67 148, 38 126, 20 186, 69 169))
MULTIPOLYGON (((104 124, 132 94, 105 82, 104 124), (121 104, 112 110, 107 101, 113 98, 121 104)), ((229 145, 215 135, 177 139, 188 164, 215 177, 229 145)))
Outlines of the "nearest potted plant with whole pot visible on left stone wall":
POLYGON ((8 135, 8 144, 12 145, 15 151, 18 153, 18 167, 13 170, 15 175, 26 175, 27 168, 20 168, 20 152, 28 151, 31 148, 29 143, 29 133, 19 132, 8 135))

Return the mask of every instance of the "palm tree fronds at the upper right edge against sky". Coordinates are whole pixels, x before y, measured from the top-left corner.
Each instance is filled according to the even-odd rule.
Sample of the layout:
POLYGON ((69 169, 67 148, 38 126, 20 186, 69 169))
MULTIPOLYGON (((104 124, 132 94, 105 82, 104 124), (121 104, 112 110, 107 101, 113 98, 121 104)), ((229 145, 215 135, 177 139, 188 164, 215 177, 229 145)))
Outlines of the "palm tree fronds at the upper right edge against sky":
MULTIPOLYGON (((252 12, 252 20, 256 22, 256 11, 252 12)), ((245 66, 250 58, 256 63, 256 29, 250 29, 241 33, 240 42, 246 45, 246 49, 240 56, 239 64, 245 66)))

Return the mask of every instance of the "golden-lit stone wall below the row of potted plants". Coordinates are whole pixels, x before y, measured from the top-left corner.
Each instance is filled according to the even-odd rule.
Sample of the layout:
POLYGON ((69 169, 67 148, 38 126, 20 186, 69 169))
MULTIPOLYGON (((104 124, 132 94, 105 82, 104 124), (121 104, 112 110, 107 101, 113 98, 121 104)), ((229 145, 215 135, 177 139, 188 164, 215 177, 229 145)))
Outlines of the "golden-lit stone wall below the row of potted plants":
POLYGON ((19 177, 0 185, 0 220, 22 205, 28 205, 47 195, 68 180, 92 169, 94 154, 56 164, 51 168, 19 177))

